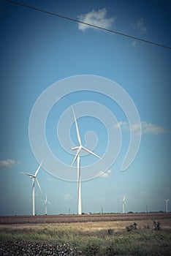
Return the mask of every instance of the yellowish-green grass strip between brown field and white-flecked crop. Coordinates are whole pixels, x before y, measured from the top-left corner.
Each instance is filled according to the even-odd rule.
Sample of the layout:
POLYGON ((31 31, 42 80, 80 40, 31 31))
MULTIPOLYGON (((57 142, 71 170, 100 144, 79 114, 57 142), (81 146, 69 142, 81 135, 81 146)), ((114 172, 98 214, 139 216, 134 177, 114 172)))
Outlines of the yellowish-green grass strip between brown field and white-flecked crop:
MULTIPOLYGON (((78 246, 83 255, 171 255, 171 232, 167 229, 126 228, 113 229, 109 234, 107 223, 68 225, 1 225, 0 241, 45 242, 78 246)), ((109 225, 109 224, 108 224, 109 225)), ((111 225, 111 224, 110 224, 111 225)))

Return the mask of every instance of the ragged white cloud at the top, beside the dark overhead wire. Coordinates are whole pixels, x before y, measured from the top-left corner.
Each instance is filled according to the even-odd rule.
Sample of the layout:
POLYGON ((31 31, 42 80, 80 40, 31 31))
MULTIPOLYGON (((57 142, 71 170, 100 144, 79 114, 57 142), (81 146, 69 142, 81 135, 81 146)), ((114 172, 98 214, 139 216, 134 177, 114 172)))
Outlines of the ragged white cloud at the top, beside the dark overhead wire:
MULTIPOLYGON (((101 26, 105 29, 110 29, 115 18, 107 18, 107 9, 103 8, 101 10, 92 10, 85 15, 78 16, 81 22, 89 23, 94 26, 101 26)), ((78 29, 84 31, 86 29, 93 29, 93 27, 85 25, 83 23, 78 23, 78 29)))

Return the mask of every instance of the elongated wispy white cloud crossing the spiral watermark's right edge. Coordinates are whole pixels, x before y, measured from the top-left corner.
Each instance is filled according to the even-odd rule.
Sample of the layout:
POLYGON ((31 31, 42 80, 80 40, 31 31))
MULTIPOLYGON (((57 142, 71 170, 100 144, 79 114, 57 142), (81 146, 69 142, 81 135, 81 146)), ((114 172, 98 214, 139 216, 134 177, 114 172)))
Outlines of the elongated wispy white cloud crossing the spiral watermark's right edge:
MULTIPOLYGON (((141 121, 140 123, 133 124, 131 130, 135 134, 139 135, 140 127, 141 135, 158 135, 167 132, 167 129, 164 129, 164 127, 159 127, 156 124, 147 123, 146 121, 141 121)), ((115 124, 114 128, 123 128, 125 131, 129 131, 129 124, 126 121, 119 121, 118 124, 115 124)))

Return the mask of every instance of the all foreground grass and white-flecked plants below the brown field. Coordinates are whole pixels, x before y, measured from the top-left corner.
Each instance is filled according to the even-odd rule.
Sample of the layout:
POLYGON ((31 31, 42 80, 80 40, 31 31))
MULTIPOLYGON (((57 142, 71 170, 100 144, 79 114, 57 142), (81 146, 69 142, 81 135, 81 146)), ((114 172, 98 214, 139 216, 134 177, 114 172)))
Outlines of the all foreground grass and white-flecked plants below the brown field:
POLYGON ((113 222, 3 225, 0 255, 171 255, 170 229, 162 228, 159 222, 129 222, 122 229, 118 226, 115 228, 113 222))

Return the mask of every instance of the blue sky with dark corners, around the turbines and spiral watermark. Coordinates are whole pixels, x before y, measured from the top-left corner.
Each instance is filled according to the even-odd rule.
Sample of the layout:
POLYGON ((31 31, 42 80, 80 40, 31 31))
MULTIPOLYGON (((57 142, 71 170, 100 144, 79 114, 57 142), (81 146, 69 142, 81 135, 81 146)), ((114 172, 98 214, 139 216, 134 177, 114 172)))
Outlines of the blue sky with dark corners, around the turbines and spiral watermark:
MULTIPOLYGON (((168 1, 19 2, 94 22, 133 37, 171 45, 168 1)), ((121 212, 120 200, 124 195, 126 211, 145 211, 146 206, 149 211, 164 211, 164 200, 171 200, 170 50, 79 26, 78 23, 7 1, 1 1, 0 12, 0 214, 31 214, 31 180, 20 173, 34 173, 39 165, 28 136, 31 110, 38 97, 50 86, 75 75, 96 75, 118 83, 136 105, 142 125, 137 156, 127 170, 121 171, 130 140, 128 120, 121 106, 97 92, 74 91, 74 85, 66 86, 66 93, 69 86, 73 89, 72 93, 53 105, 45 126, 48 146, 56 158, 64 165, 72 164, 75 152, 72 153, 71 147, 72 143, 77 145, 77 138, 71 106, 75 105, 76 116, 81 116, 87 110, 79 102, 96 102, 113 113, 118 128, 115 122, 110 122, 110 118, 108 121, 113 127, 114 137, 111 140, 114 140, 114 152, 118 145, 115 139, 118 138, 119 128, 122 135, 121 151, 111 166, 110 162, 107 163, 110 167, 106 173, 82 183, 83 211, 99 212, 103 207, 104 212, 121 212), (68 113, 69 119, 66 121, 70 123, 64 127, 61 124, 58 138, 57 125, 60 118, 65 120, 67 115, 64 113, 68 113), (66 132, 64 135, 63 129, 66 132), (60 146, 59 140, 63 140, 66 148, 60 146)), ((107 148, 104 124, 90 116, 82 116, 77 122, 83 143, 102 156, 107 148)), ((35 129, 39 133, 39 125, 35 129)), ((136 127, 132 127, 132 132, 136 132, 136 127)), ((108 157, 113 151, 107 151, 108 157)), ((81 161, 86 166, 92 165, 96 159, 85 156, 81 161)), ((58 169, 58 166, 53 167, 58 169)), ((66 170, 64 166, 64 172, 66 170)), ((70 179, 72 173, 75 177, 76 171, 76 168, 69 169, 70 179)), ((76 214, 77 183, 64 181, 60 175, 56 178, 50 173, 51 170, 42 167, 37 175, 42 187, 42 193, 36 187, 37 214, 45 213, 45 206, 42 206, 45 192, 51 203, 47 208, 48 214, 68 214, 69 208, 71 213, 76 214)))

